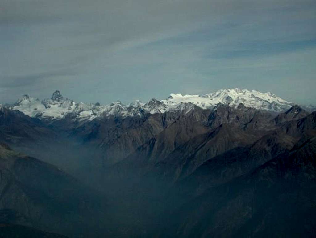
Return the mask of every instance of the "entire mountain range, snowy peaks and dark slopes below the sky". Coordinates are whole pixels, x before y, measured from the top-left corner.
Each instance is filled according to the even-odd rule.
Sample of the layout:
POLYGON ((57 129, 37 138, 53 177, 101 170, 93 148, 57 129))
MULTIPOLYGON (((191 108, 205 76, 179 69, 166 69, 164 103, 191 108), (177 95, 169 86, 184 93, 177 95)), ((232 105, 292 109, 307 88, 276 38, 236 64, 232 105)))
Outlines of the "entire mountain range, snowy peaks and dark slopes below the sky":
POLYGON ((0 107, 0 231, 315 237, 315 141, 313 107, 254 90, 106 106, 24 95, 0 107))

